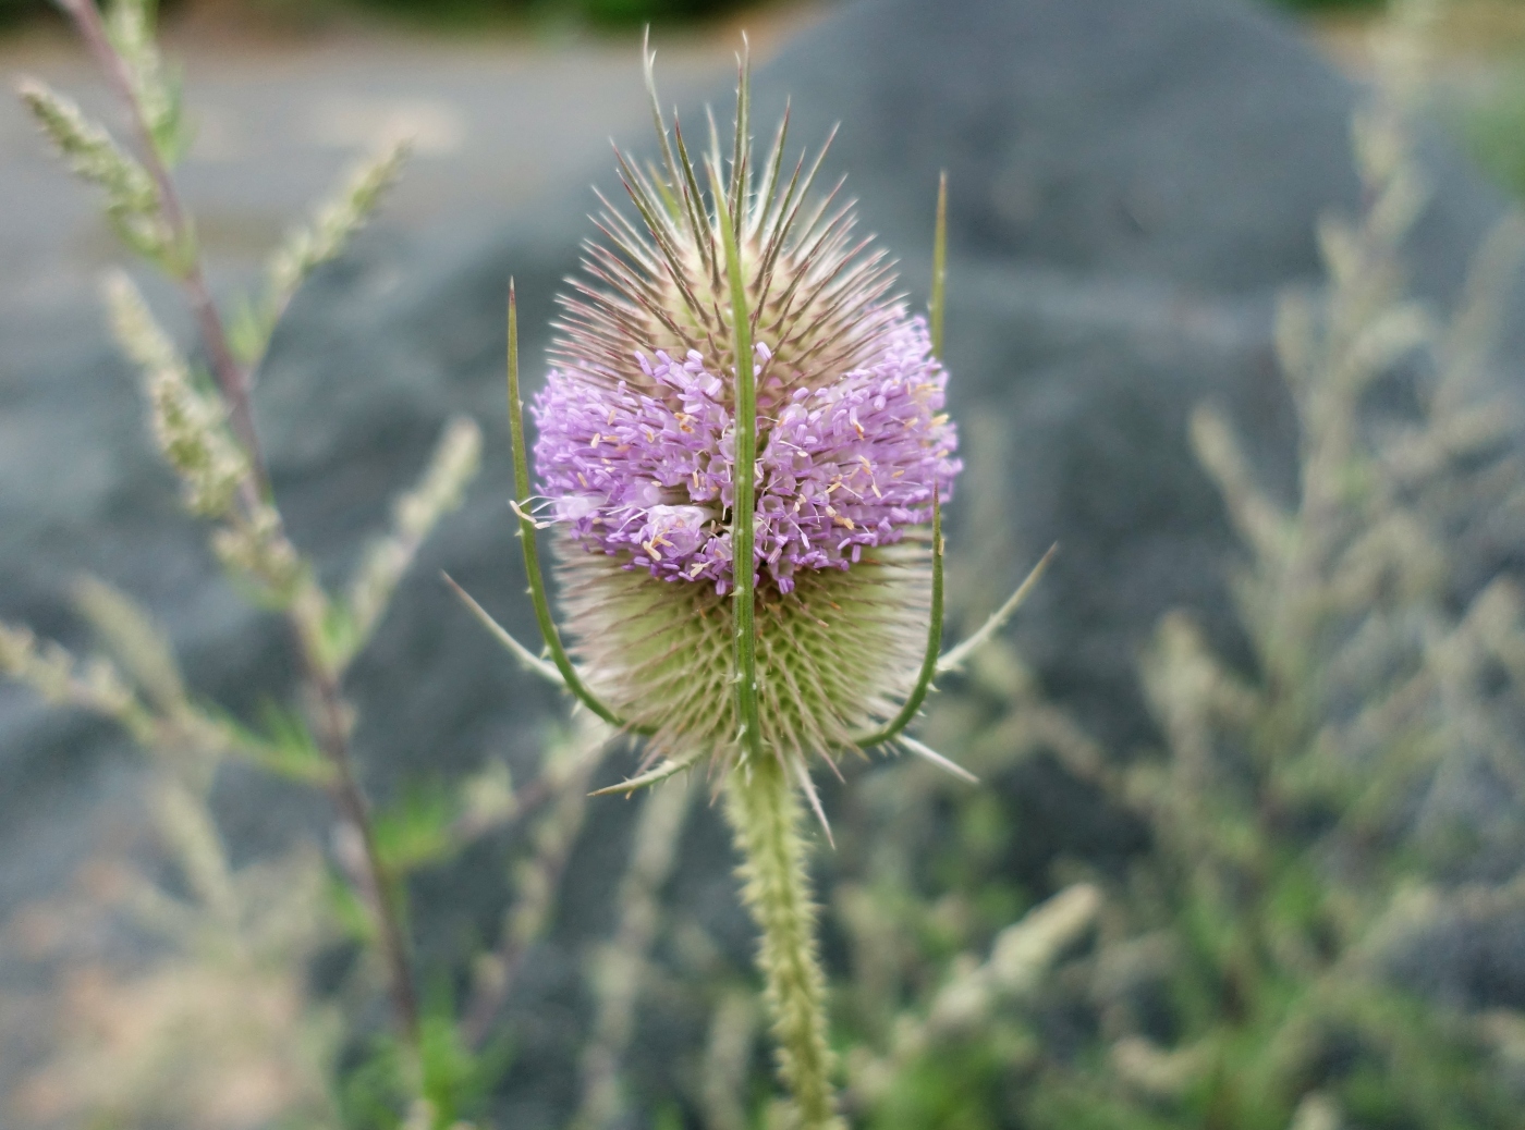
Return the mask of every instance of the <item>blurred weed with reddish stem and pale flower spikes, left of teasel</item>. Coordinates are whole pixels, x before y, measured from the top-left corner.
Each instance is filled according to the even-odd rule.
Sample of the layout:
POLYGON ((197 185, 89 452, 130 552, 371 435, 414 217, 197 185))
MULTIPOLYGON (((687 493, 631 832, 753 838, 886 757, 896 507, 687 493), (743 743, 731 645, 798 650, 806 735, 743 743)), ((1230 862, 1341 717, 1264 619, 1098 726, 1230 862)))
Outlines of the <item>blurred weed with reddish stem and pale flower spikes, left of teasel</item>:
MULTIPOLYGON (((105 631, 114 659, 85 662, 23 627, 0 624, 0 673, 49 701, 108 717, 149 752, 165 753, 168 761, 154 764, 171 766, 166 788, 183 817, 169 822, 169 846, 192 880, 207 872, 206 859, 224 859, 207 807, 212 776, 224 759, 252 761, 328 795, 339 918, 369 955, 366 968, 380 971, 390 999, 393 1037, 383 1054, 396 1078, 387 1101, 400 1106, 409 1125, 450 1124, 448 1087, 432 1066, 441 1058, 441 1039, 430 1035, 419 1006, 406 883, 520 805, 508 782, 493 787, 493 781, 473 779, 444 816, 435 813, 439 819, 421 822, 406 805, 375 807, 360 779, 351 740, 357 714, 345 677, 424 540, 461 503, 477 470, 480 433, 465 418, 447 424, 421 480, 395 502, 392 528, 361 554, 348 587, 329 592, 316 564, 287 535, 252 406, 253 380, 282 313, 316 267, 343 253, 396 178, 407 143, 389 143, 360 165, 310 223, 287 236, 268 261, 262 287, 227 317, 207 282, 195 223, 174 181, 191 130, 178 78, 156 44, 151 0, 114 0, 105 11, 93 0, 59 0, 59 8, 104 73, 131 142, 119 143, 38 81, 23 81, 18 93, 73 172, 101 191, 122 242, 178 285, 194 316, 200 360, 181 354, 127 273, 113 271, 105 282, 111 328, 142 374, 151 432, 180 479, 186 508, 212 525, 212 549, 235 587, 290 628, 302 673, 300 709, 271 708, 252 726, 200 700, 185 686, 168 645, 146 628, 105 631), (200 759, 200 767, 186 770, 188 758, 200 759), (194 827, 197 834, 175 836, 175 827, 194 827)), ((90 592, 96 598, 85 613, 99 622, 92 613, 104 607, 99 586, 90 592)), ((107 604, 133 607, 120 595, 113 601, 107 604)), ((146 619, 137 612, 110 618, 116 628, 124 624, 146 619)), ((450 1045, 453 1037, 442 1040, 450 1045)))

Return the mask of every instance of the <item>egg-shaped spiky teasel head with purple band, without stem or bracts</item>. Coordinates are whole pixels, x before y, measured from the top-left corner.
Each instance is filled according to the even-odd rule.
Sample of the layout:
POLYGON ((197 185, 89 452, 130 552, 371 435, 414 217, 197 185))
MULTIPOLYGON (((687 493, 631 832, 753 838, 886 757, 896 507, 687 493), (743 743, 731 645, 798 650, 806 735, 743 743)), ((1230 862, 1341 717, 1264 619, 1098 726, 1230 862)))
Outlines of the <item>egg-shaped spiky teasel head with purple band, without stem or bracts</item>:
MULTIPOLYGON (((764 741, 824 752, 895 714, 927 639, 932 502, 959 471, 947 374, 889 294, 817 157, 758 166, 743 75, 724 207, 680 130, 621 157, 634 206, 598 218, 535 400, 541 491, 564 532, 573 651, 653 753, 730 750, 737 358, 721 217, 755 342, 758 695, 764 741), (909 537, 907 537, 909 534, 909 537)), ((787 116, 785 116, 787 122, 787 116)))

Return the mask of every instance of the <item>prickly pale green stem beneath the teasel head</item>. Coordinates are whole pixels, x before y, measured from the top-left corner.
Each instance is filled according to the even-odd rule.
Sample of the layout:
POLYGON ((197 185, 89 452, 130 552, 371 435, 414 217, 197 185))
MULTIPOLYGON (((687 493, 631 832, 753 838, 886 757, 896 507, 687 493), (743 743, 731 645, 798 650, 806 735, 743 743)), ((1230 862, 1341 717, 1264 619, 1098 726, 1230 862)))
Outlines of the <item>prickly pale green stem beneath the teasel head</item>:
POLYGON ((825 976, 816 953, 816 907, 805 875, 804 816, 782 764, 750 758, 726 781, 726 814, 741 851, 743 898, 761 930, 758 967, 778 1040, 779 1074, 799 1130, 840 1130, 833 1110, 825 976))

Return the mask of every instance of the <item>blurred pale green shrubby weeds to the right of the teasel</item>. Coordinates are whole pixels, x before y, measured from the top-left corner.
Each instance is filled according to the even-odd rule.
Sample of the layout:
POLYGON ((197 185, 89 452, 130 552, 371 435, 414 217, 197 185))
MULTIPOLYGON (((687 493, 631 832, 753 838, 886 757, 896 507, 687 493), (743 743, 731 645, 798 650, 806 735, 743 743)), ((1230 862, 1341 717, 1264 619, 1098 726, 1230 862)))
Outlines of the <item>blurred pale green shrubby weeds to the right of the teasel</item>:
POLYGON ((1490 355, 1525 223, 1501 224, 1449 317, 1417 303, 1401 250, 1426 188, 1406 119, 1369 105, 1354 140, 1363 210, 1321 223, 1327 285, 1278 316, 1293 497, 1261 488, 1211 406, 1191 427, 1241 537, 1254 662, 1168 616, 1141 669, 1161 749, 1124 762, 997 640, 927 720, 994 788, 924 766, 854 782, 828 903, 854 1124, 1520 1124, 1525 1016, 1502 978, 1453 988, 1458 939, 1488 968, 1511 958, 1452 923, 1525 900, 1525 595, 1472 560, 1525 482, 1490 355), (1020 866, 1066 778, 1138 830, 1127 859, 1077 842, 1048 875, 1020 866))

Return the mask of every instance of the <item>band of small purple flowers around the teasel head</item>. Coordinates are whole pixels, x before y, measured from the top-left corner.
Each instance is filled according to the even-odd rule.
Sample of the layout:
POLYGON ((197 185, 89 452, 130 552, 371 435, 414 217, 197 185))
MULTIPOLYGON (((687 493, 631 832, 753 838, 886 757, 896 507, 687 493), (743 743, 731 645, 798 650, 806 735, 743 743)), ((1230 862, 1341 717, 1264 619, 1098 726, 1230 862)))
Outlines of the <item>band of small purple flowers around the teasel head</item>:
MULTIPOLYGON (((952 493, 958 435, 927 326, 903 307, 865 313, 875 332, 842 372, 776 372, 756 346, 758 584, 781 593, 801 569, 848 569, 895 543, 952 493)), ((552 371, 535 398, 535 464, 557 522, 590 552, 666 581, 730 586, 732 375, 689 349, 633 351, 634 372, 552 371)))

